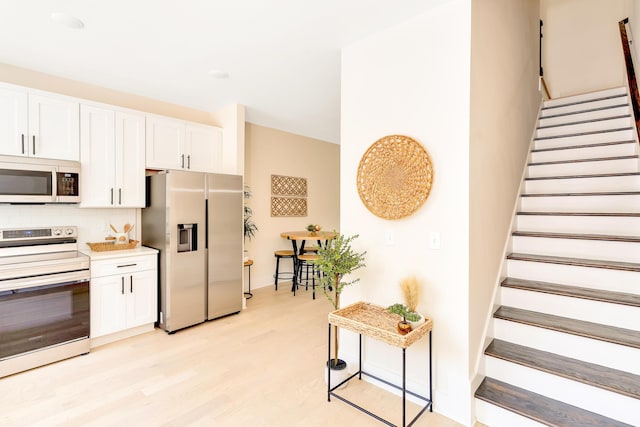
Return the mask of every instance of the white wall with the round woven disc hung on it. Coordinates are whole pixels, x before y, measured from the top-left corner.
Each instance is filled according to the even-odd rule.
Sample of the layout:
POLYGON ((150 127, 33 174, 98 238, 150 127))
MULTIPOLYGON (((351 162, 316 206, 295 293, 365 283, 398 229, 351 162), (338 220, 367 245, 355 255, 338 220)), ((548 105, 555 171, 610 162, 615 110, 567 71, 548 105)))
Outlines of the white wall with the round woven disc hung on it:
MULTIPOLYGON (((469 284, 469 0, 440 2, 425 14, 343 50, 340 231, 360 234, 366 250, 361 282, 343 293, 342 306, 402 302, 399 281, 423 283, 419 310, 434 321, 434 410, 470 422, 468 380, 469 284), (388 221, 371 214, 357 193, 358 164, 367 148, 390 134, 426 148, 435 169, 426 203, 412 216, 388 221), (387 232, 395 244, 385 245, 387 232), (429 249, 429 232, 441 248, 429 249)), ((343 356, 353 363, 357 339, 342 334, 343 356)), ((427 388, 426 339, 407 351, 408 385, 427 388)), ((401 351, 365 344, 365 368, 398 381, 401 351)))

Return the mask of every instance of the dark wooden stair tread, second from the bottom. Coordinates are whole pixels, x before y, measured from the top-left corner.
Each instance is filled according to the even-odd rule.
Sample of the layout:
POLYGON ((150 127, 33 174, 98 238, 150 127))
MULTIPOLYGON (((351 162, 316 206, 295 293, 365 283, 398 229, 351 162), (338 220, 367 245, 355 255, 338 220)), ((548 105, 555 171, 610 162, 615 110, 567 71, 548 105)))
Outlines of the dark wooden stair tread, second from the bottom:
MULTIPOLYGON (((486 355, 640 399, 640 375, 494 339, 486 355)), ((640 403, 640 402, 639 402, 640 403)))

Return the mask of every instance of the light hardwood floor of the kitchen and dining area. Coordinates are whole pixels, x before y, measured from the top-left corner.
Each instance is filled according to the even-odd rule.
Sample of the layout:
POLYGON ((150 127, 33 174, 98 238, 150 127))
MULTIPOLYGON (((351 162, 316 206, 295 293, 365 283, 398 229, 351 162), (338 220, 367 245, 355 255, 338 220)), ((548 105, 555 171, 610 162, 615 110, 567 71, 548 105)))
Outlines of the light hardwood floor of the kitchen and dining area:
MULTIPOLYGON (((327 402, 324 295, 294 297, 284 284, 253 294, 238 315, 174 335, 155 330, 0 379, 0 426, 382 426, 327 402)), ((344 391, 401 421, 397 396, 356 380, 344 391)), ((415 425, 459 426, 436 413, 415 425)))

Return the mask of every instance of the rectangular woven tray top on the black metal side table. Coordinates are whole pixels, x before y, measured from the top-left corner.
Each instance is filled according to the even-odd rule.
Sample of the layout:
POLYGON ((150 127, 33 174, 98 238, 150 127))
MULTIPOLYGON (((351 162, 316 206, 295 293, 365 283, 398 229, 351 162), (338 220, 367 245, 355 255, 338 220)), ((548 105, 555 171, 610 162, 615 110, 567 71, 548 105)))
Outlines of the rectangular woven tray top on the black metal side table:
POLYGON ((349 331, 375 338, 396 347, 407 348, 425 336, 433 322, 425 317, 425 322, 406 335, 398 332, 397 325, 402 318, 389 313, 386 308, 367 302, 357 302, 329 313, 329 323, 349 331))

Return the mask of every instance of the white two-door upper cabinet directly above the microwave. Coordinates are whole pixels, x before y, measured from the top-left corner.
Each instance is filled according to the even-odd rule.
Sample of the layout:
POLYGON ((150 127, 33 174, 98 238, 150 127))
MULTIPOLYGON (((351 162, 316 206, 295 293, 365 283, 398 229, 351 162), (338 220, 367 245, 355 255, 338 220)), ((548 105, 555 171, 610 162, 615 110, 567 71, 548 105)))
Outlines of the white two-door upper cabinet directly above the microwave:
POLYGON ((79 104, 55 94, 0 87, 0 154, 79 160, 79 104))

